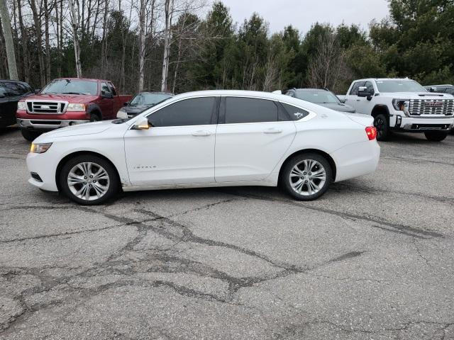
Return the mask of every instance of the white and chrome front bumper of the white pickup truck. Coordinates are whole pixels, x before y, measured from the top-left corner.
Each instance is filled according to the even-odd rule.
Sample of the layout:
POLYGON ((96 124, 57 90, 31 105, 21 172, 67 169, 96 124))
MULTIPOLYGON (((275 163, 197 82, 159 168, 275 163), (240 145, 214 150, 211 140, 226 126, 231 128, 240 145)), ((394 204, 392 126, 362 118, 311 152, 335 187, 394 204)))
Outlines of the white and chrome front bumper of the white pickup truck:
POLYGON ((406 117, 393 115, 389 118, 389 126, 393 131, 401 132, 426 132, 426 131, 449 131, 454 126, 454 117, 406 117))

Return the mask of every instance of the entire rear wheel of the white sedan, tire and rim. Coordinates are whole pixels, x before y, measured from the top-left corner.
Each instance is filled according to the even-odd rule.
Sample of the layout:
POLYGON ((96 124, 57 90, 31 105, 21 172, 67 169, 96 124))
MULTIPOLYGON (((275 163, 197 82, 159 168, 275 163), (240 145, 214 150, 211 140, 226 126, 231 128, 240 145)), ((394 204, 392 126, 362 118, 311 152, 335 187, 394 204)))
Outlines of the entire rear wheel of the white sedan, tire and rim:
POLYGON ((329 162, 320 154, 299 154, 285 164, 281 183, 297 200, 316 200, 333 181, 329 162))

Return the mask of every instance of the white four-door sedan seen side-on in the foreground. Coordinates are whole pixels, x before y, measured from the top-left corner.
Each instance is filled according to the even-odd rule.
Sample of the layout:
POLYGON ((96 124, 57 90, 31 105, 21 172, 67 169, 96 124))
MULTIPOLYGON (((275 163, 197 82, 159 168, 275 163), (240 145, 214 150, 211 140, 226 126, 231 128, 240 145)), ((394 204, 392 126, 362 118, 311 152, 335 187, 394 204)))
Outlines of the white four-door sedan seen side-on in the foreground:
POLYGON ((372 118, 289 96, 200 91, 130 120, 45 133, 27 157, 29 182, 84 205, 118 191, 277 186, 314 200, 333 182, 375 171, 372 118))

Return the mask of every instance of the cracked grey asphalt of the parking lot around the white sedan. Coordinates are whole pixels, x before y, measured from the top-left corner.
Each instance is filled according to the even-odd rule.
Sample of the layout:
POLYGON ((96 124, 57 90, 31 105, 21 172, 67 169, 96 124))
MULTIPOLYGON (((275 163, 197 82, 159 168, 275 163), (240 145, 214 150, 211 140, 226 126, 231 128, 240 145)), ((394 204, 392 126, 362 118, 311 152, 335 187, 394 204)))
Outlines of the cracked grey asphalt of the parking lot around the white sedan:
POLYGON ((27 183, 0 131, 0 339, 454 339, 454 135, 396 135, 377 172, 276 188, 124 193, 27 183))

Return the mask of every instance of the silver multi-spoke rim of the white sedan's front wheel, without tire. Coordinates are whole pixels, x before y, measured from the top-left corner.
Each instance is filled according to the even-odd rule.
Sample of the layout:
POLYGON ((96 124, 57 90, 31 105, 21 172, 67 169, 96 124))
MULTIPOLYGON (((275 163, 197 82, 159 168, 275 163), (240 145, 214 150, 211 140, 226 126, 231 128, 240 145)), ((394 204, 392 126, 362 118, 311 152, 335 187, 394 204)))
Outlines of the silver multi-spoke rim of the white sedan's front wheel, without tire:
POLYGON ((93 162, 82 162, 72 167, 67 176, 68 188, 81 200, 97 200, 109 190, 106 169, 93 162))

